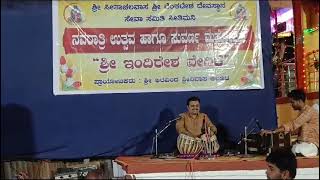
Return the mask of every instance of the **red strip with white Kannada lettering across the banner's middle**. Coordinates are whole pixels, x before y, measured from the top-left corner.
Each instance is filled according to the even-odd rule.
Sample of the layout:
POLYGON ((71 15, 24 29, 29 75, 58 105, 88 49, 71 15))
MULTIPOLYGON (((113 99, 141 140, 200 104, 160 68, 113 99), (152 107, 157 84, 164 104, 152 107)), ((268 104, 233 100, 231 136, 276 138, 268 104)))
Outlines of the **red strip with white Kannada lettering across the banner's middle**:
POLYGON ((63 46, 69 53, 177 52, 252 50, 252 27, 66 28, 63 46))

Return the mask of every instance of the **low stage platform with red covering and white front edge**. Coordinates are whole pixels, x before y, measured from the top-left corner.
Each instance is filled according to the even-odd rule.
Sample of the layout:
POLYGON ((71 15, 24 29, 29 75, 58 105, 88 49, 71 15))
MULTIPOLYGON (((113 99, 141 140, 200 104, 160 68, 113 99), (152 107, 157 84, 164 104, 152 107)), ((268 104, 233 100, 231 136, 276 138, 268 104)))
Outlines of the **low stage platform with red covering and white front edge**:
MULTIPOLYGON (((114 160, 118 177, 154 179, 266 179, 265 156, 220 156, 212 159, 178 159, 175 157, 121 156, 114 160)), ((297 178, 319 179, 319 157, 298 157, 297 178)))

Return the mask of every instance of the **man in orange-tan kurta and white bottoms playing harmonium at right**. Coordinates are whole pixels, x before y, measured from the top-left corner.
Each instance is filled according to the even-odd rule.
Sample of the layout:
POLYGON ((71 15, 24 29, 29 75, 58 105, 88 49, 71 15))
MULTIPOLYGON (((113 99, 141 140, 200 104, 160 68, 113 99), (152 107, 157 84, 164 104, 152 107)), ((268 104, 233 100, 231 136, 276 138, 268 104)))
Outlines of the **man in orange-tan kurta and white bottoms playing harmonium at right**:
POLYGON ((292 152, 296 155, 316 156, 319 148, 319 114, 314 108, 305 104, 306 95, 303 90, 292 90, 288 97, 292 108, 299 111, 299 116, 274 131, 262 130, 261 133, 292 133, 300 129, 292 152))

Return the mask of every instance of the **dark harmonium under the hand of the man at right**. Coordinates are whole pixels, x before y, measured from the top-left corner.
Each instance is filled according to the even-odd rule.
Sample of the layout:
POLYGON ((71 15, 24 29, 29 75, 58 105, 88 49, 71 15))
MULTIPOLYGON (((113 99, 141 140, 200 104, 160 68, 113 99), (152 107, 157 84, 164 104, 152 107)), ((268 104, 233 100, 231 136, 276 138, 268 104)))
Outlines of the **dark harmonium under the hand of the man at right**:
POLYGON ((249 134, 247 136, 248 152, 251 154, 267 154, 280 148, 291 148, 290 133, 272 133, 261 135, 249 134))

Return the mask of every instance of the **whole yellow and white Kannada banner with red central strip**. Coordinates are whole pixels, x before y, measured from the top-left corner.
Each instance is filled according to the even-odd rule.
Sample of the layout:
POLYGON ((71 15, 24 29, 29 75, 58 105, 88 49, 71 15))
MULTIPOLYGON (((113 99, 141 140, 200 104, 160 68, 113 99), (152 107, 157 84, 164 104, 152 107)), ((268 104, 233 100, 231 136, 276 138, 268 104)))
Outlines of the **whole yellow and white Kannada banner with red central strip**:
POLYGON ((263 89, 257 1, 53 1, 54 94, 263 89))

